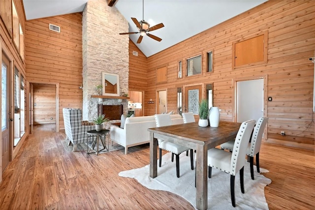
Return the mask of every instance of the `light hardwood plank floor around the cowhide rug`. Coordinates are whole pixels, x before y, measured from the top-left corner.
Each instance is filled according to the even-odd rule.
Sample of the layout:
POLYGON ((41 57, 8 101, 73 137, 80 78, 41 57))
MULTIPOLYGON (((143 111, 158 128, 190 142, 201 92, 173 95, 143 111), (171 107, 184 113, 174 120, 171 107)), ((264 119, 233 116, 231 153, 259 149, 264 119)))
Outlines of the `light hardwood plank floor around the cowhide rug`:
MULTIPOLYGON (((3 174, 1 210, 194 209, 177 195, 118 176, 149 164, 148 144, 127 155, 116 150, 96 156, 72 152, 64 138, 63 132, 39 127, 29 136, 3 174)), ((270 171, 264 176, 272 180, 265 187, 271 210, 315 209, 314 151, 263 144, 260 166, 270 171)))

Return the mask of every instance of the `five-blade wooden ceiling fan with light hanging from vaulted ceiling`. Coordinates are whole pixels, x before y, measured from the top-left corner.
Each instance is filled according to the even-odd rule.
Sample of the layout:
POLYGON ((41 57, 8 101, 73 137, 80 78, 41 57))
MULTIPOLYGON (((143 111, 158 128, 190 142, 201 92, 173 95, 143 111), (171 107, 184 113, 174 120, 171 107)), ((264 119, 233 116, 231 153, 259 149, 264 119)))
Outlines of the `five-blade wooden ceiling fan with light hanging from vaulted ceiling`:
POLYGON ((150 27, 150 24, 143 19, 143 16, 144 16, 143 15, 144 14, 144 2, 143 1, 144 0, 142 0, 142 20, 138 21, 136 18, 131 18, 131 20, 137 26, 139 31, 137 31, 137 32, 119 33, 119 34, 124 35, 124 34, 140 33, 140 36, 139 36, 139 38, 137 40, 137 44, 141 43, 143 36, 149 36, 150 38, 153 38, 154 40, 157 40, 157 41, 160 42, 162 40, 161 38, 159 38, 158 36, 152 35, 149 32, 153 31, 153 30, 160 29, 160 28, 164 27, 164 25, 162 23, 160 23, 158 25, 150 27))

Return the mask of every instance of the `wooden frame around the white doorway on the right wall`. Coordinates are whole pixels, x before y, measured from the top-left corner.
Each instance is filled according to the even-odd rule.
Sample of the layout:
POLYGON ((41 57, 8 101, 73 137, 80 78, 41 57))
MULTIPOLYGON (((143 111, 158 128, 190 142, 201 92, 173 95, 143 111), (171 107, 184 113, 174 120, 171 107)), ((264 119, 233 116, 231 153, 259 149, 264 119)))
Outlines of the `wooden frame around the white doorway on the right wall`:
MULTIPOLYGON (((247 81, 247 80, 256 80, 256 79, 263 79, 264 81, 264 107, 263 107, 263 116, 268 116, 268 75, 256 75, 256 76, 250 76, 250 77, 238 77, 232 79, 232 121, 236 122, 236 91, 237 91, 237 82, 241 81, 247 81)), ((267 141, 268 139, 268 122, 267 125, 264 128, 264 134, 262 140, 267 141)))

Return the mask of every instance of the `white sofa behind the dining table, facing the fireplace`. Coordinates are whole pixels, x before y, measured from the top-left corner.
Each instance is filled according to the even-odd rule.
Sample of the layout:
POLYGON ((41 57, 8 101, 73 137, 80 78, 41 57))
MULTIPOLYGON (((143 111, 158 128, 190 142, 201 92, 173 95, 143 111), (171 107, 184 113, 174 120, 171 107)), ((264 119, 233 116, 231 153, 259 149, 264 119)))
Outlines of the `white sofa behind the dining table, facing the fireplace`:
MULTIPOLYGON (((170 115, 173 124, 184 123, 181 115, 170 115)), ((129 147, 150 142, 148 128, 156 127, 154 116, 127 118, 124 128, 112 125, 110 138, 112 141, 125 147, 125 154, 129 147)))

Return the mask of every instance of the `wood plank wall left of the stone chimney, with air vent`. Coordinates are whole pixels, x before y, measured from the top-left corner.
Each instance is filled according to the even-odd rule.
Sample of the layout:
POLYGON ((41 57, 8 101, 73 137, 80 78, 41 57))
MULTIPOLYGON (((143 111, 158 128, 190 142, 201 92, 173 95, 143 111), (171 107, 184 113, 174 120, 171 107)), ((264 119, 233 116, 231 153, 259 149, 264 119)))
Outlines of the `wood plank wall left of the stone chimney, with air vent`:
POLYGON ((82 109, 82 13, 26 22, 27 79, 34 83, 59 84, 59 125, 63 108, 82 109), (49 24, 61 32, 49 30, 49 24))

